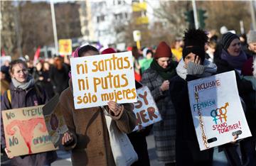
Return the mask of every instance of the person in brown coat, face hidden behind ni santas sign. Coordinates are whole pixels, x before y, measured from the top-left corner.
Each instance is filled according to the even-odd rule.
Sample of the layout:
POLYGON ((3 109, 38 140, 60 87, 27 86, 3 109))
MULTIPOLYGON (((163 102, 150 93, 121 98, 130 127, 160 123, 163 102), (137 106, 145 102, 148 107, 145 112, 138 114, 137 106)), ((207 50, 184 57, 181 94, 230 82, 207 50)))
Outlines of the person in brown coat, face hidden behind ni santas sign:
MULTIPOLYGON (((75 50, 73 56, 99 54, 97 48, 85 45, 75 50)), ((62 144, 65 150, 72 150, 73 165, 116 165, 104 111, 99 106, 75 109, 72 78, 69 83, 70 87, 60 95, 60 109, 69 130, 64 134, 62 144)), ((115 101, 109 101, 104 108, 120 131, 129 133, 133 130, 136 118, 132 104, 117 104, 115 101)))

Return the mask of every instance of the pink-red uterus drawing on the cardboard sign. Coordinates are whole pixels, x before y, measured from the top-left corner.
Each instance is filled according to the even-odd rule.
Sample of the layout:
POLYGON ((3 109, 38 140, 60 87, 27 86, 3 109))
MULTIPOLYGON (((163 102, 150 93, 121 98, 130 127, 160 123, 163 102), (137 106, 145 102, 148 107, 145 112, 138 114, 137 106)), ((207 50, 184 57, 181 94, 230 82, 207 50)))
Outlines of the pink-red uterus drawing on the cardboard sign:
POLYGON ((14 120, 6 126, 6 134, 14 135, 17 131, 15 127, 18 127, 19 132, 28 147, 28 154, 32 153, 31 144, 34 135, 34 129, 39 126, 38 130, 42 133, 47 131, 46 122, 44 118, 31 118, 26 121, 14 120))

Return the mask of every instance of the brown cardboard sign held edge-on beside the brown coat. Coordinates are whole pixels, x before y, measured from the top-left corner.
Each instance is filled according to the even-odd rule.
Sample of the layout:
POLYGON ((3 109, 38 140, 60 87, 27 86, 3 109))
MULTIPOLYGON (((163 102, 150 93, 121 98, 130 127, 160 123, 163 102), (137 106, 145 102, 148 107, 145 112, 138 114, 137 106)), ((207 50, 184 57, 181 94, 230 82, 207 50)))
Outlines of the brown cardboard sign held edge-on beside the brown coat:
POLYGON ((43 106, 43 116, 46 120, 46 127, 55 148, 61 143, 64 133, 68 131, 58 101, 59 96, 56 94, 45 106, 43 106))

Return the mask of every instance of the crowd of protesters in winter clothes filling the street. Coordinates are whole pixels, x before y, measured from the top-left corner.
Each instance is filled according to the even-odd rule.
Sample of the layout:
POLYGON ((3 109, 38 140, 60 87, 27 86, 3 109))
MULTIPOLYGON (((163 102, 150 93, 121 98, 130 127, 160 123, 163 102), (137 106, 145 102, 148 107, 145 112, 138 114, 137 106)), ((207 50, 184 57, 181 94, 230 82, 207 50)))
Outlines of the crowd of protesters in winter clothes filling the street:
MULTIPOLYGON (((140 50, 133 46, 127 50, 132 51, 137 88, 149 87, 162 118, 141 131, 130 133, 136 121, 130 104, 109 101, 107 106, 75 113, 67 57, 41 59, 36 64, 23 60, 5 62, 0 72, 1 110, 46 104, 59 94, 60 108, 69 129, 61 144, 65 150, 72 150, 73 165, 115 165, 105 111, 131 140, 138 155, 133 165, 150 165, 146 145, 150 132, 154 134, 158 160, 164 165, 256 165, 256 31, 247 35, 225 32, 218 36, 188 29, 183 38, 176 38, 171 45, 162 41, 156 48, 140 50), (230 143, 201 151, 193 127, 188 81, 229 71, 235 71, 252 136, 239 140, 239 135, 235 135, 230 143)), ((73 57, 114 52, 118 51, 114 48, 100 51, 85 45, 77 48, 73 57)), ((9 154, 2 124, 1 149, 9 154)), ((9 158, 12 165, 50 165, 57 156, 51 151, 21 157, 9 155, 9 158)))

